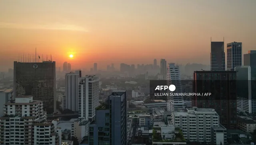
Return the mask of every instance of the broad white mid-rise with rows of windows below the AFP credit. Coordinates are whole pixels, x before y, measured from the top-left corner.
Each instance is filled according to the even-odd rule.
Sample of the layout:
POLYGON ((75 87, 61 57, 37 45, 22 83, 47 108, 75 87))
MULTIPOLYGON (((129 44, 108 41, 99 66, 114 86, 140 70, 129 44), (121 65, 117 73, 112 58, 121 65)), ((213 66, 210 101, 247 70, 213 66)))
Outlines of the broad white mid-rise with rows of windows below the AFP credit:
POLYGON ((217 145, 220 142, 226 143, 226 129, 220 125, 219 115, 214 109, 193 107, 184 112, 172 112, 171 123, 182 129, 184 138, 188 141, 209 143, 215 141, 217 145), (216 135, 216 133, 220 134, 216 135))

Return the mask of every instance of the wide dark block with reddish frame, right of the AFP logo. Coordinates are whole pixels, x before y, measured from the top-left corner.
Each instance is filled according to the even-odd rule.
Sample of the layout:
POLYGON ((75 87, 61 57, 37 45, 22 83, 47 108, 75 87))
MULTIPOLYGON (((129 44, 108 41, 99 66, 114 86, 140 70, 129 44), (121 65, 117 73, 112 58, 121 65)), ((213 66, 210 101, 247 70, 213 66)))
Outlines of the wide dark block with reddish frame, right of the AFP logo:
POLYGON ((195 71, 193 83, 194 93, 211 95, 193 97, 192 105, 215 109, 224 127, 236 128, 236 72, 195 71))

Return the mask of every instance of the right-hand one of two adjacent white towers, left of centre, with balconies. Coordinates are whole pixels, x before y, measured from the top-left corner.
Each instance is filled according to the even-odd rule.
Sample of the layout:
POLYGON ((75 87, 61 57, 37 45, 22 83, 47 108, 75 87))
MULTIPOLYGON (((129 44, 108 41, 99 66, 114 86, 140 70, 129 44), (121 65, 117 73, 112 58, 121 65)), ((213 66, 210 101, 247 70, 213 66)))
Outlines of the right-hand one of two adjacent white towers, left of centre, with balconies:
POLYGON ((78 110, 80 119, 94 120, 99 105, 99 78, 96 75, 81 77, 78 86, 78 110))

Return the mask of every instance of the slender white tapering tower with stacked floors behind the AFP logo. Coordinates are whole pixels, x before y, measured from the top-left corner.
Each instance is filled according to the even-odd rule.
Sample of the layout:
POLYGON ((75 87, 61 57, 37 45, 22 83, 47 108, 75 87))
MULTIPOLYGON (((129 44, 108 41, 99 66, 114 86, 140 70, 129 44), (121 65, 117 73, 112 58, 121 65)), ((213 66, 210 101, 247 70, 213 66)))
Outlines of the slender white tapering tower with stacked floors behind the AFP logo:
MULTIPOLYGON (((180 68, 175 66, 174 63, 168 64, 167 67, 167 85, 175 85, 176 89, 174 93, 182 93, 182 86, 180 80, 180 68)), ((168 90, 168 93, 171 91, 168 90)), ((167 111, 179 111, 183 110, 184 99, 183 96, 170 96, 167 100, 167 111)))

